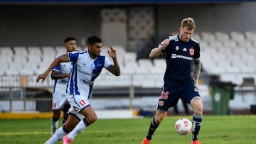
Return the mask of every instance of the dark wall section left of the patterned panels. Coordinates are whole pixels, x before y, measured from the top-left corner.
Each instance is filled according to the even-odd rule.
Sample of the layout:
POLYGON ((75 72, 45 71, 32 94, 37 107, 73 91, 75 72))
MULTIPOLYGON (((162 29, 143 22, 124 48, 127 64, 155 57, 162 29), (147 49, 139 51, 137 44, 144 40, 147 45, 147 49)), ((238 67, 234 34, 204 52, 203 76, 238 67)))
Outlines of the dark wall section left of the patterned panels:
POLYGON ((100 9, 80 6, 1 6, 1 46, 63 45, 67 36, 100 35, 100 9))

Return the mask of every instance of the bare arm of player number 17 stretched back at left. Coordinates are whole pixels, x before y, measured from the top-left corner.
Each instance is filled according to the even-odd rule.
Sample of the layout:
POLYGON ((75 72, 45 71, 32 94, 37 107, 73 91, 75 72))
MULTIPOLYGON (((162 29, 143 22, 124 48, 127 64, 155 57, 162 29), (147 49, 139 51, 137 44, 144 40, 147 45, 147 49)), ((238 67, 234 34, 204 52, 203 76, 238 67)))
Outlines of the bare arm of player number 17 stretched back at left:
POLYGON ((69 61, 68 53, 65 53, 63 55, 60 55, 60 57, 55 58, 53 62, 50 64, 50 66, 48 67, 48 69, 46 70, 46 72, 43 72, 43 74, 38 75, 38 77, 36 78, 36 82, 39 82, 40 79, 42 79, 42 83, 43 83, 43 81, 46 79, 46 77, 48 76, 49 72, 53 69, 53 67, 60 64, 60 62, 68 62, 68 61, 69 61))

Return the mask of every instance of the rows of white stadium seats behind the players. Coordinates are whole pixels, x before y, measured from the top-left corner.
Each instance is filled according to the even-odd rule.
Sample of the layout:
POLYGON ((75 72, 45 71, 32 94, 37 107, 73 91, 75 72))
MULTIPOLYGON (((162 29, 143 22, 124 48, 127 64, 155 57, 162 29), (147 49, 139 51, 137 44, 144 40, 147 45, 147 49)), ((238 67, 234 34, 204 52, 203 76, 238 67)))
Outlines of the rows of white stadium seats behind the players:
MULTIPOLYGON (((201 62, 203 70, 208 74, 219 74, 223 81, 231 81, 235 84, 241 84, 243 77, 255 77, 256 79, 256 33, 203 32, 195 33, 193 38, 201 43, 201 62)), ((118 53, 117 58, 122 74, 143 75, 143 77, 137 78, 139 79, 137 84, 145 87, 162 84, 162 77, 159 75, 162 76, 166 68, 164 59, 137 60, 136 52, 127 52, 122 46, 114 46, 114 48, 118 53), (148 78, 146 74, 155 74, 156 77, 151 79, 157 79, 157 82, 155 81, 154 84, 146 82, 148 78)), ((78 50, 85 49, 78 47, 78 50)), ((107 50, 109 50, 108 47, 103 47, 102 55, 107 55, 107 50)), ((1 66, 0 75, 40 74, 46 70, 46 67, 57 55, 64 51, 63 46, 55 48, 50 46, 41 48, 2 47, 0 48, 0 62, 4 65, 1 66)), ((102 73, 109 74, 106 70, 103 70, 102 73)), ((99 79, 104 78, 100 76, 99 79)), ((126 76, 122 79, 122 83, 119 85, 131 84, 126 76)), ((117 81, 114 80, 114 82, 117 81)), ((103 83, 104 81, 97 81, 99 85, 104 85, 103 83)))

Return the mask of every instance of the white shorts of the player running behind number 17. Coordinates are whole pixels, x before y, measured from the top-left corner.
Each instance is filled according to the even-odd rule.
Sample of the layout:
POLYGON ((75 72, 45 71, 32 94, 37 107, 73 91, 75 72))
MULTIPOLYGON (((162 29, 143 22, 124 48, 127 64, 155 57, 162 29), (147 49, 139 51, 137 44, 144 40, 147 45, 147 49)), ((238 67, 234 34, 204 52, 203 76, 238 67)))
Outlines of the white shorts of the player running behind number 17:
POLYGON ((68 94, 66 93, 55 92, 53 94, 52 109, 53 110, 61 109, 65 104, 65 101, 67 100, 67 96, 68 94))

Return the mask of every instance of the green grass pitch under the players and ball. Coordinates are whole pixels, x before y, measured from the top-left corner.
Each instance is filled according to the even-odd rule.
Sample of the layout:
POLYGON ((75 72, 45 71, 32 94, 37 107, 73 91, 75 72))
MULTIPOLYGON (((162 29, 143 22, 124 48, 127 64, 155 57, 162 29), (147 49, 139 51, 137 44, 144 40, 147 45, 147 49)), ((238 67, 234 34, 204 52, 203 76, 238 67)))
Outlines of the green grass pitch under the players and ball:
MULTIPOLYGON (((191 134, 178 135, 174 123, 182 116, 164 118, 151 144, 190 144, 191 134)), ((191 119, 192 116, 185 116, 191 119)), ((99 119, 80 133, 73 143, 140 144, 151 118, 99 119)), ((204 116, 199 133, 202 144, 256 143, 256 116, 204 116)), ((44 143, 50 137, 50 119, 0 120, 0 143, 44 143)), ((62 143, 62 141, 58 142, 62 143)))

